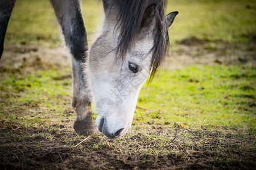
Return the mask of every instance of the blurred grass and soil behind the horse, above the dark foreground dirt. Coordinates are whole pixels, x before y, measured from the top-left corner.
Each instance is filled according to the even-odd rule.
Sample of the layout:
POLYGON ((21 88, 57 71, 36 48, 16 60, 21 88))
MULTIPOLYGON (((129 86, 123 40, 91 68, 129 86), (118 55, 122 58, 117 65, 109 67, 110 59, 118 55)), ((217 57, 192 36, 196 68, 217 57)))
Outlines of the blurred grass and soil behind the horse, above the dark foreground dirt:
MULTIPOLYGON (((169 28, 171 53, 143 87, 135 123, 254 127, 255 1, 168 1, 166 14, 172 11, 179 14, 169 28)), ((102 2, 82 1, 82 15, 90 46, 101 30, 102 2)), ((60 37, 49 1, 16 1, 0 62, 0 116, 72 125, 72 73, 60 37)))

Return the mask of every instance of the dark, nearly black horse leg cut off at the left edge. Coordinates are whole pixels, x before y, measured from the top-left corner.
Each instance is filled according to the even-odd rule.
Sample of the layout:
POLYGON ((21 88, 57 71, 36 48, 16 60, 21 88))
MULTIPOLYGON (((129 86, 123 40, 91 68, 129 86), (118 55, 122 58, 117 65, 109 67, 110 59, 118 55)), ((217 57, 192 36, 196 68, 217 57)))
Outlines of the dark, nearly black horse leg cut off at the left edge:
POLYGON ((5 33, 11 12, 16 0, 0 0, 0 59, 3 54, 3 42, 5 41, 5 33))

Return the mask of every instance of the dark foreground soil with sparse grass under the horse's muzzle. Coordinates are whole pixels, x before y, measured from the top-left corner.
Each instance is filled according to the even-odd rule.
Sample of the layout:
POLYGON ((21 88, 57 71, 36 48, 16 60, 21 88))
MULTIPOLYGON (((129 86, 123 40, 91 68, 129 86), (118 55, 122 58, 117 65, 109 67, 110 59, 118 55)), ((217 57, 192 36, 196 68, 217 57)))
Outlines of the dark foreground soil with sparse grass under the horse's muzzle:
MULTIPOLYGON (((229 129, 229 130, 225 130, 229 129)), ((255 169, 255 137, 180 126, 137 127, 119 140, 65 125, 0 124, 1 169, 255 169), (239 143, 239 145, 237 145, 239 143)))

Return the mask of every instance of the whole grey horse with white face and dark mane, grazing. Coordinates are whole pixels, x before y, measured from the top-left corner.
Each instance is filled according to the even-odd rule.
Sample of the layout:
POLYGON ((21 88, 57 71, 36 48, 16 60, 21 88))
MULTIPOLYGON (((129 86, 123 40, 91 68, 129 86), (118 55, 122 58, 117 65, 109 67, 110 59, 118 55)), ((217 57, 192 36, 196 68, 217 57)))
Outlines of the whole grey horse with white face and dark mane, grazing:
MULTIPOLYGON (((0 54, 15 0, 0 0, 0 54)), ((109 138, 131 126, 139 91, 168 49, 168 27, 178 12, 164 15, 164 0, 103 0, 101 36, 88 54, 80 0, 51 0, 72 55, 73 107, 77 133, 100 130, 109 138), (92 101, 99 114, 92 118, 92 101), (102 104, 107 105, 104 108, 102 104), (110 107, 112 109, 110 109, 110 107)))

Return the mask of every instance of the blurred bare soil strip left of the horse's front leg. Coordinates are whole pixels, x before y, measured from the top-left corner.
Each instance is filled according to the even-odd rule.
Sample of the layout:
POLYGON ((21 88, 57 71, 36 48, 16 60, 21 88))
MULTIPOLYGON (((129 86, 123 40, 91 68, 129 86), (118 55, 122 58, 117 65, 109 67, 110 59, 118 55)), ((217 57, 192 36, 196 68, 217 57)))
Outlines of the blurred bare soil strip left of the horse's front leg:
POLYGON ((7 45, 1 58, 0 71, 26 74, 42 69, 57 69, 70 65, 67 56, 67 50, 61 46, 46 48, 34 45, 7 45))

